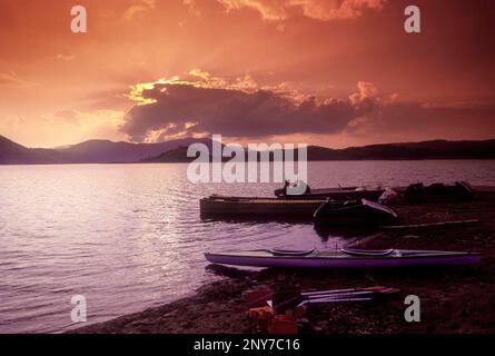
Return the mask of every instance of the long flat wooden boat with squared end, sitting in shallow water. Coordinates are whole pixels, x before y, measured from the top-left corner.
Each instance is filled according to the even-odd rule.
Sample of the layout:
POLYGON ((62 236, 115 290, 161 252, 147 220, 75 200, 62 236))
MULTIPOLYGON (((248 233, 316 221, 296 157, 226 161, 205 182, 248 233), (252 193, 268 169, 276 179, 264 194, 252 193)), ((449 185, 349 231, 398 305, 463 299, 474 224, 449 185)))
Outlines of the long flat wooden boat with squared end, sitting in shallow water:
POLYGON ((200 214, 210 216, 311 218, 324 199, 278 199, 210 196, 199 200, 200 214))

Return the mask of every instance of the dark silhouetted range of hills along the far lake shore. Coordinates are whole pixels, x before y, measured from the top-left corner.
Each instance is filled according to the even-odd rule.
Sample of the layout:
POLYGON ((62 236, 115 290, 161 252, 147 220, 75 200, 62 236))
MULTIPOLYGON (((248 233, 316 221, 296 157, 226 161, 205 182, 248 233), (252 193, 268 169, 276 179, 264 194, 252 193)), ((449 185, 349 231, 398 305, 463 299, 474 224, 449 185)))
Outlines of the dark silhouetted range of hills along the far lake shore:
MULTIPOLYGON (((211 139, 185 138, 158 144, 89 140, 63 148, 39 149, 27 148, 0 136, 0 165, 189 162, 195 158, 187 157, 187 147, 194 142, 205 144, 211 151, 211 139)), ((297 159, 297 150, 294 156, 297 159)), ((378 159, 495 159, 495 139, 484 141, 433 140, 344 149, 308 147, 308 160, 378 159)))

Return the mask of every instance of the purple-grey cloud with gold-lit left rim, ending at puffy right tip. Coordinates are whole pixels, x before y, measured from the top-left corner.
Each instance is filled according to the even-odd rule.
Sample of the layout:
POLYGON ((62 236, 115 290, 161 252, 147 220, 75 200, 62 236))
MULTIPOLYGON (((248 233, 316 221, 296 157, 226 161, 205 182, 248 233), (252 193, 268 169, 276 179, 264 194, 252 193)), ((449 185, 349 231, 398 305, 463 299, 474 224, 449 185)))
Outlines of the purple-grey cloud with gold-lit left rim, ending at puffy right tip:
MULTIPOLYGON (((212 81, 217 82, 218 79, 212 81)), ((330 134, 370 115, 379 102, 375 97, 377 90, 369 82, 359 82, 359 92, 348 100, 323 101, 274 90, 247 91, 209 85, 161 79, 133 86, 129 98, 137 105, 126 115, 122 131, 133 141, 179 134, 221 134, 227 137, 330 134)))

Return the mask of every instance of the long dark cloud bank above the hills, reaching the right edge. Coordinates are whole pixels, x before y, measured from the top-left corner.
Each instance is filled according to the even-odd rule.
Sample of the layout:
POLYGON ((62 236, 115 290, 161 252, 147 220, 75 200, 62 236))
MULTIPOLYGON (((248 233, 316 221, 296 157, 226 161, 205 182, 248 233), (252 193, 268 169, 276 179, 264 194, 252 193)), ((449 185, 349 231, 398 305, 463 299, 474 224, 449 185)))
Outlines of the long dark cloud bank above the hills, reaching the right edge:
MULTIPOLYGON (((377 132, 469 132, 495 136, 495 106, 423 105, 378 98, 376 90, 359 86, 349 99, 303 101, 270 90, 198 88, 191 85, 155 85, 142 92, 155 102, 135 106, 122 131, 143 141, 152 131, 161 138, 179 132, 221 134, 226 137, 266 137, 288 134, 355 135, 377 132), (195 123, 191 123, 195 122, 195 123)), ((372 88, 373 89, 373 88, 372 88)), ((444 136, 445 137, 445 136, 444 136)))

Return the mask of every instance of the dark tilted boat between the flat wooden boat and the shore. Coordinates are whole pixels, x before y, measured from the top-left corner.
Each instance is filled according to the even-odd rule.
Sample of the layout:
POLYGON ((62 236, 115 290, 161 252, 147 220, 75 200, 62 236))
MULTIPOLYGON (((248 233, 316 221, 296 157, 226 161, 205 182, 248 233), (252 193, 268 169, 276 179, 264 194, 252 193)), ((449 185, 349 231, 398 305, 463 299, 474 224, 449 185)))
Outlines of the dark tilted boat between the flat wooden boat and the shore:
POLYGON ((382 225, 397 219, 390 208, 367 199, 336 201, 328 199, 314 214, 316 222, 334 225, 382 225))

